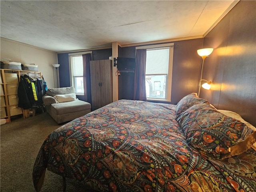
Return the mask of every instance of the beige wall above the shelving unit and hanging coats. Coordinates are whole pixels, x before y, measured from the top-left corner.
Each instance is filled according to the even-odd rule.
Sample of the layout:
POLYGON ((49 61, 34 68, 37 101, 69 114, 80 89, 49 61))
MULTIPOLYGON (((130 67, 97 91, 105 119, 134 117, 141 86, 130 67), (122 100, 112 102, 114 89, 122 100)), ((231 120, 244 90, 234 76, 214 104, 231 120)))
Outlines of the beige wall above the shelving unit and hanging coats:
POLYGON ((48 87, 57 87, 56 70, 52 64, 58 63, 57 53, 28 44, 1 38, 1 59, 9 58, 22 64, 34 63, 42 72, 48 87), (55 82, 55 86, 54 86, 55 82))

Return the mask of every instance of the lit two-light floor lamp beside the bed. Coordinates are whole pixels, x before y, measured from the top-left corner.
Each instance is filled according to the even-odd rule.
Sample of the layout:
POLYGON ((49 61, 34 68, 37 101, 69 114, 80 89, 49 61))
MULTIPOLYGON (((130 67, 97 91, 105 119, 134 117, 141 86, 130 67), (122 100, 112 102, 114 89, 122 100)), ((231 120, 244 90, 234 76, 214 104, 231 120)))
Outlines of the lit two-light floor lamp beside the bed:
POLYGON ((206 59, 206 57, 208 57, 212 53, 212 51, 213 51, 213 48, 204 48, 204 49, 197 50, 198 55, 201 56, 203 59, 202 66, 201 66, 201 72, 200 72, 198 97, 200 96, 201 85, 203 88, 205 88, 207 90, 209 90, 211 88, 212 82, 202 79, 202 75, 203 75, 203 68, 204 68, 204 60, 206 59), (207 83, 202 84, 202 81, 206 81, 207 83))

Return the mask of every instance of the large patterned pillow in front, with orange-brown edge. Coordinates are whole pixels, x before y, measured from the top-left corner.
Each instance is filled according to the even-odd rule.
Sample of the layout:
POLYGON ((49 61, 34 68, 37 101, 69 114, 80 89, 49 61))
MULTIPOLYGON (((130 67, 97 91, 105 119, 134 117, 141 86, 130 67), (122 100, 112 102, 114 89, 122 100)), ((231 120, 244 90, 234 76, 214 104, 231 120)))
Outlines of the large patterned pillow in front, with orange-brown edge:
POLYGON ((197 104, 177 117, 188 144, 209 158, 224 159, 246 151, 256 132, 208 104, 197 104))

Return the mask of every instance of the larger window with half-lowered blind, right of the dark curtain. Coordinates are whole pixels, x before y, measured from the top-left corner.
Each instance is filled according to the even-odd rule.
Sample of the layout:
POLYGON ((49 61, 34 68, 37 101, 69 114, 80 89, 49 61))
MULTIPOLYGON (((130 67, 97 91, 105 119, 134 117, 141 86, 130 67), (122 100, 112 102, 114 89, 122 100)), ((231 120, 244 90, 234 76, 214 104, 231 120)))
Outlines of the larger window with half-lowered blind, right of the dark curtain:
POLYGON ((147 100, 171 100, 173 43, 136 47, 146 49, 147 100))

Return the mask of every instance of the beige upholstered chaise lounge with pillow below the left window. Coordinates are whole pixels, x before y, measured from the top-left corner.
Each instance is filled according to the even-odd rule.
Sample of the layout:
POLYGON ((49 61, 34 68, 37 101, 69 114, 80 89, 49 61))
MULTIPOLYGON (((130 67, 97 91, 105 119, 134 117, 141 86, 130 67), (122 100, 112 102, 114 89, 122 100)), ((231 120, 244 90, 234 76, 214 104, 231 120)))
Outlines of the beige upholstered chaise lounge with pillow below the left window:
POLYGON ((91 112, 90 103, 76 98, 74 87, 49 88, 42 100, 46 111, 58 124, 91 112))

